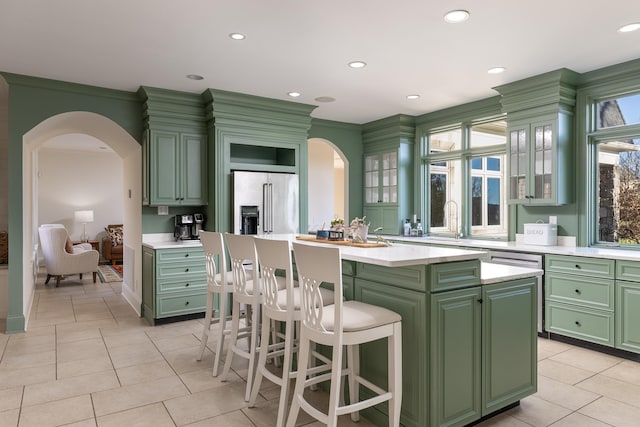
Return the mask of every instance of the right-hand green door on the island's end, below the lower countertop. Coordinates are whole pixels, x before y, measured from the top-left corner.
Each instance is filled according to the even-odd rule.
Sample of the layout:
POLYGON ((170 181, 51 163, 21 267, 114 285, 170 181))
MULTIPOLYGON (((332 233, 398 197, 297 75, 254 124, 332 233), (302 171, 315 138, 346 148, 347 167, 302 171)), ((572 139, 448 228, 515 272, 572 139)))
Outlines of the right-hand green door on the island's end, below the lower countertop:
POLYGON ((482 415, 537 388, 537 284, 535 278, 482 289, 482 415))

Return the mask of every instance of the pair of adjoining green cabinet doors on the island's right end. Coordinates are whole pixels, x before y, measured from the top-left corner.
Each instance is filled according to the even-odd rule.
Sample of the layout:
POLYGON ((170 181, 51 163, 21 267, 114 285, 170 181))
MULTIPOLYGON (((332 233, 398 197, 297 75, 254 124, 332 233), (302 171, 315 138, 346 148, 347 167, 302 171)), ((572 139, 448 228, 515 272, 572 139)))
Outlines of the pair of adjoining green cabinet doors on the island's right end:
POLYGON ((536 392, 534 278, 431 296, 432 426, 464 426, 536 392))

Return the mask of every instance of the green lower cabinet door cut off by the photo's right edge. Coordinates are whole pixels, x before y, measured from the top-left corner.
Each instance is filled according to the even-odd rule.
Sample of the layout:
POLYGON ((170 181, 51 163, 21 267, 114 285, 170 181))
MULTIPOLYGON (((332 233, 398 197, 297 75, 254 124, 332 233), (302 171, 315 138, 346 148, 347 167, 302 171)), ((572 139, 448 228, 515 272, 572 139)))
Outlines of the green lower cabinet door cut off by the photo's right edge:
POLYGON ((616 347, 640 353, 640 283, 638 282, 616 281, 616 347))

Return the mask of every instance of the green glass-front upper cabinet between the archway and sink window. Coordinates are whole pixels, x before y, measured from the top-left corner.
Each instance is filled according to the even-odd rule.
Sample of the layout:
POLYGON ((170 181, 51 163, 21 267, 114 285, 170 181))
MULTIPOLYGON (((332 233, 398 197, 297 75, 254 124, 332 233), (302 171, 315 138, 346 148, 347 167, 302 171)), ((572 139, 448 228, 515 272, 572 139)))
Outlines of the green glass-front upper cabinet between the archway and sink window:
POLYGON ((415 121, 398 115, 363 126, 363 213, 380 234, 401 234, 412 215, 415 121))

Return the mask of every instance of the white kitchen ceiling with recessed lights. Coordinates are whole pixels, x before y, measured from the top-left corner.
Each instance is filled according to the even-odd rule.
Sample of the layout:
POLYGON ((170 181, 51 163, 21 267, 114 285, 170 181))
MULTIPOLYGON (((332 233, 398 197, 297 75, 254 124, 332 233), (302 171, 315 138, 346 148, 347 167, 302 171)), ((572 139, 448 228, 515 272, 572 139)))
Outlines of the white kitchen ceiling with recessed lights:
POLYGON ((640 58, 640 31, 617 32, 632 22, 637 0, 0 0, 0 71, 126 91, 223 89, 366 123, 640 58), (471 16, 446 23, 452 9, 471 16), (497 66, 506 71, 487 73, 497 66))

